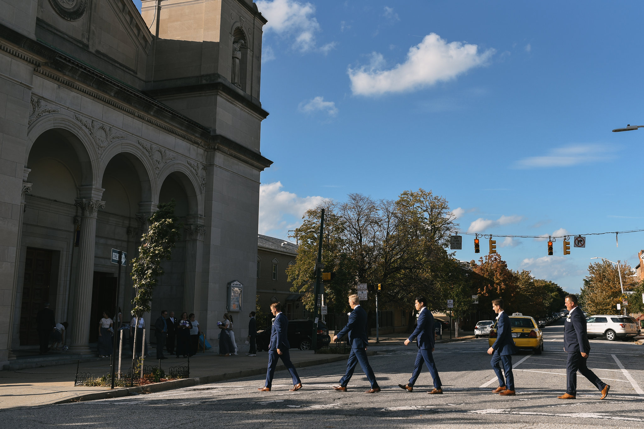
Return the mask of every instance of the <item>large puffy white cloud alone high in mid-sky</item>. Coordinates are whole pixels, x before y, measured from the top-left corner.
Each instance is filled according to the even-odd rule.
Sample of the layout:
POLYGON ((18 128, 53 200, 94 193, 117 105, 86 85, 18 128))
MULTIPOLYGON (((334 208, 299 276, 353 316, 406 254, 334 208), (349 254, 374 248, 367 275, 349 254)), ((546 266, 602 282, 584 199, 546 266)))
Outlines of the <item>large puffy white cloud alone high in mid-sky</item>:
POLYGON ((479 53, 475 44, 448 43, 439 35, 431 33, 410 48, 402 64, 383 69, 383 55, 374 52, 370 66, 349 68, 348 75, 355 95, 414 91, 439 81, 451 80, 471 68, 483 66, 494 52, 490 49, 479 53))

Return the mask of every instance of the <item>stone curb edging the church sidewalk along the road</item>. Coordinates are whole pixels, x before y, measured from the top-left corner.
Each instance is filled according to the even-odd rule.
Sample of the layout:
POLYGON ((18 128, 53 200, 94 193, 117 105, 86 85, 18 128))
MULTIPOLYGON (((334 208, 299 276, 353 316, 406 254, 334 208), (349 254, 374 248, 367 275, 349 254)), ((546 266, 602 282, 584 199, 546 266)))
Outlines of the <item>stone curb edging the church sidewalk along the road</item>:
MULTIPOLYGON (((374 356, 378 352, 370 351, 367 352, 367 356, 374 356)), ((293 363, 293 366, 296 368, 312 367, 315 365, 322 365, 323 363, 332 363, 341 360, 346 360, 348 354, 336 354, 335 356, 330 356, 328 358, 319 358, 316 360, 308 360, 303 362, 293 363)), ((285 370, 284 365, 278 365, 276 371, 285 370)), ((129 387, 129 388, 118 388, 114 390, 107 390, 105 392, 95 392, 90 394, 83 394, 74 397, 68 397, 60 401, 50 402, 47 405, 53 404, 67 404, 72 402, 81 402, 81 401, 96 401, 98 399, 111 399, 115 397, 124 397, 130 396, 132 394, 147 394, 147 393, 156 393, 164 392, 166 390, 174 390, 176 388, 191 387, 197 385, 204 385, 209 383, 215 383, 216 381, 224 381, 234 378, 243 378, 250 376, 258 376, 260 374, 265 374, 266 369, 264 368, 254 368, 254 369, 244 369, 235 372, 224 372, 223 374, 213 374, 211 376, 201 376, 201 377, 192 377, 184 378, 180 380, 173 381, 164 381, 163 383, 154 383, 151 385, 140 386, 140 387, 129 387)))

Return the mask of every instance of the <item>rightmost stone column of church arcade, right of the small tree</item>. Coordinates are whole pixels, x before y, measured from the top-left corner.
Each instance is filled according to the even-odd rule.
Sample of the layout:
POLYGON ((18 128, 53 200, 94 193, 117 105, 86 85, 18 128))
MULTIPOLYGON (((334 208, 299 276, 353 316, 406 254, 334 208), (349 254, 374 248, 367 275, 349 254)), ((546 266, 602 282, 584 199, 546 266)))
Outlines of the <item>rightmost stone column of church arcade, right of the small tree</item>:
MULTIPOLYGON (((184 268, 184 311, 188 314, 198 311, 196 299, 201 282, 202 247, 205 226, 185 225, 185 268, 184 268)), ((199 319, 197 319, 199 320, 199 319)))

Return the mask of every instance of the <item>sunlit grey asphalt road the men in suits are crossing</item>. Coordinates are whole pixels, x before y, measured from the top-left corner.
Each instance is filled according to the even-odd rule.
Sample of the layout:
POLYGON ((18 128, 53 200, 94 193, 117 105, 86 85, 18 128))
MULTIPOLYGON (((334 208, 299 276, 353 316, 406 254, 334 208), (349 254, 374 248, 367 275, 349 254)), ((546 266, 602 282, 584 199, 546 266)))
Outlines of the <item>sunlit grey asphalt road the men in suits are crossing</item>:
MULTIPOLYGON (((276 373, 272 392, 258 392, 263 377, 236 379, 169 392, 0 412, 0 427, 50 428, 576 428, 644 427, 644 346, 591 341, 589 367, 611 385, 607 399, 578 374, 577 399, 563 401, 565 354, 563 325, 545 328, 540 356, 513 356, 517 395, 492 394, 497 387, 489 366, 488 339, 437 345, 434 353, 443 395, 428 395, 431 378, 424 369, 414 392, 401 390, 413 369, 413 345, 375 346, 370 358, 383 391, 369 388, 359 369, 348 392, 330 387, 344 374, 344 362, 299 369, 303 389, 289 392, 286 371, 276 373)), ((260 355, 262 359, 266 354, 260 355)), ((359 368, 359 367, 358 367, 359 368)))

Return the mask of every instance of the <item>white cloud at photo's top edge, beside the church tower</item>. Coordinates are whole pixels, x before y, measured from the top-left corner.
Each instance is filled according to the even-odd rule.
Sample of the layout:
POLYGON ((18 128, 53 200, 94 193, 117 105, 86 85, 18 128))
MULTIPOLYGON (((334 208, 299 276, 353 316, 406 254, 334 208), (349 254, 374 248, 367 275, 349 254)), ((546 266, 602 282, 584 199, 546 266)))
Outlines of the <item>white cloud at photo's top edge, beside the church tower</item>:
MULTIPOLYGON (((275 32, 293 39, 292 46, 298 51, 316 49, 316 33, 321 28, 314 16, 314 5, 296 0, 258 0, 256 3, 261 14, 269 21, 264 26, 264 32, 275 32)), ((335 44, 327 44, 322 50, 327 53, 333 46, 335 44)))

